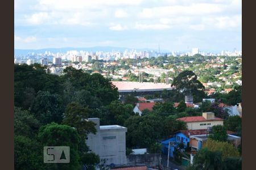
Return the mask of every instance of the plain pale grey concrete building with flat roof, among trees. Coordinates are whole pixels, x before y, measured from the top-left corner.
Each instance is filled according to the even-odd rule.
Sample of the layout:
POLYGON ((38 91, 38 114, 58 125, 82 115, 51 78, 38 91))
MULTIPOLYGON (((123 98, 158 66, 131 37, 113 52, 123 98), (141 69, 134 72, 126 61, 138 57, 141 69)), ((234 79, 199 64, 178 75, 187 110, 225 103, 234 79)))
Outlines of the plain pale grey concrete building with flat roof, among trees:
POLYGON ((119 125, 100 126, 100 118, 89 118, 96 125, 97 133, 89 134, 86 144, 90 150, 106 160, 106 164, 126 164, 127 128, 119 125))

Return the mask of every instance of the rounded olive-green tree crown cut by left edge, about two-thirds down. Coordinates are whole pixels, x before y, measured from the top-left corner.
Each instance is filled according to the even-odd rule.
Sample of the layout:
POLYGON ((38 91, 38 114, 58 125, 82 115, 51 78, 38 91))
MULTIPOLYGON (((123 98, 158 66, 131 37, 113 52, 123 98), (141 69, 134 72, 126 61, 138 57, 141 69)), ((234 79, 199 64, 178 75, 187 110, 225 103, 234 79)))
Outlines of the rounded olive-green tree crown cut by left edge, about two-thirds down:
POLYGON ((14 134, 34 137, 40 123, 33 114, 21 108, 14 107, 14 134))

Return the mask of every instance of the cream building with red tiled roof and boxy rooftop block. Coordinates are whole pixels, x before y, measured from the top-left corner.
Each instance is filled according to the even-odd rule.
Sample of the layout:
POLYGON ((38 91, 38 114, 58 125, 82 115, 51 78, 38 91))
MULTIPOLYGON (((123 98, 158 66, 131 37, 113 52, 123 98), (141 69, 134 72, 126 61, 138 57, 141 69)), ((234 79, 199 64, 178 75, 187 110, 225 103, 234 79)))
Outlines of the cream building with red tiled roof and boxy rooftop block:
POLYGON ((187 123, 188 130, 207 129, 214 125, 223 125, 223 119, 214 116, 213 112, 204 112, 202 116, 189 116, 177 118, 187 123))

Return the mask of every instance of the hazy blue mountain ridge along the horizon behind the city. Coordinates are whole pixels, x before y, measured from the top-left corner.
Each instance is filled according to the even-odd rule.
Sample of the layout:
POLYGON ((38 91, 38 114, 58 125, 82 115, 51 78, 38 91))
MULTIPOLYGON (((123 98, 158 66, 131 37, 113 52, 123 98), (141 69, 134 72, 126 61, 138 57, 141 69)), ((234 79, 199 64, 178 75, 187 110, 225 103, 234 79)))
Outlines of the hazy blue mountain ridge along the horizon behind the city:
MULTIPOLYGON (((114 47, 114 46, 94 46, 94 47, 86 47, 86 48, 73 48, 73 47, 67 47, 67 48, 44 48, 44 49, 14 49, 15 55, 27 55, 31 53, 39 54, 39 53, 45 53, 51 52, 51 53, 67 53, 70 50, 77 50, 77 51, 88 51, 88 52, 96 52, 96 51, 102 51, 102 52, 111 52, 119 51, 124 52, 125 50, 132 50, 133 48, 125 48, 125 47, 114 47)), ((148 48, 141 48, 141 49, 135 49, 138 51, 142 50, 154 50, 157 52, 156 49, 148 49, 148 48)), ((170 50, 161 50, 161 53, 170 53, 170 50)))

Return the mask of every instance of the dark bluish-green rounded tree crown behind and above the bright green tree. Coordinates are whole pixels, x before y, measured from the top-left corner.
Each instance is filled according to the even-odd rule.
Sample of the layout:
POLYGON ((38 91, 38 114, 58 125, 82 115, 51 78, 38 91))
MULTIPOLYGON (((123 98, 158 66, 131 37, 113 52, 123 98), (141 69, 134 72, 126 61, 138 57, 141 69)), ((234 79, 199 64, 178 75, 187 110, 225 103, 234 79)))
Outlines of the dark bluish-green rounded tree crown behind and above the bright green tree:
POLYGON ((39 91, 31 106, 31 113, 42 125, 51 122, 61 122, 63 110, 61 103, 55 94, 48 91, 39 91))

